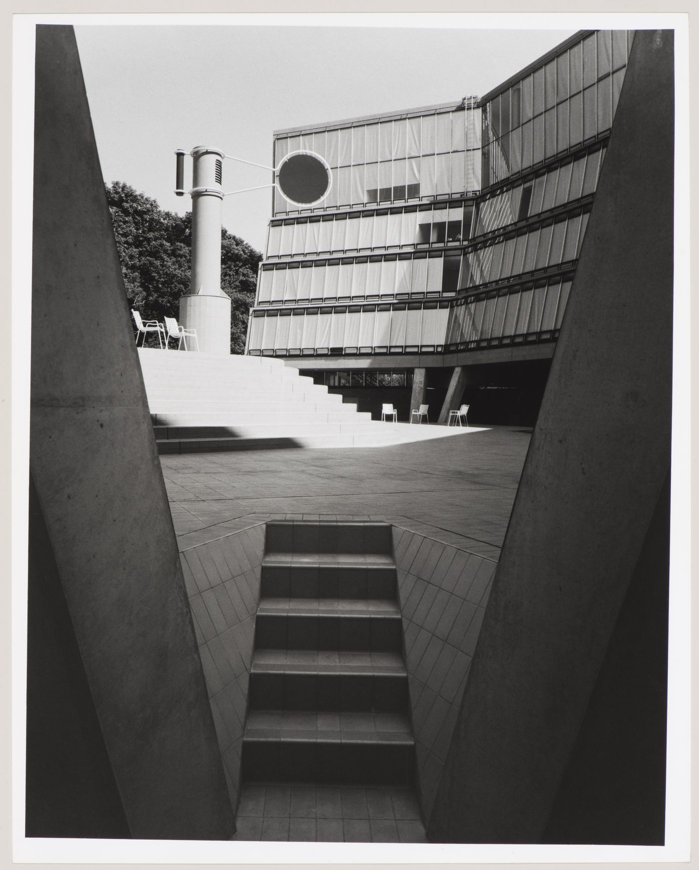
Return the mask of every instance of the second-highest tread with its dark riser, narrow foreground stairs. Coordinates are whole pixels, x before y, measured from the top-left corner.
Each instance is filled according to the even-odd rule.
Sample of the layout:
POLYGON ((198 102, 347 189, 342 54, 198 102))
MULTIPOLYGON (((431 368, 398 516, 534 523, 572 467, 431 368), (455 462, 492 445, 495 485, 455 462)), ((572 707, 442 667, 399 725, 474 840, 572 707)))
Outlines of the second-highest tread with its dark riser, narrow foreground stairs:
MULTIPOLYGON (((400 611, 380 611, 365 600, 364 612, 351 612, 343 608, 329 608, 321 612, 313 608, 284 608, 284 599, 263 601, 255 623, 256 644, 261 649, 289 650, 341 650, 400 653, 402 623, 400 611), (273 602, 273 603, 272 603, 273 602)), ((324 599, 306 599, 319 602, 324 599)), ((383 603, 383 602, 382 602, 383 603)), ((386 602, 391 604, 391 602, 386 602)))

